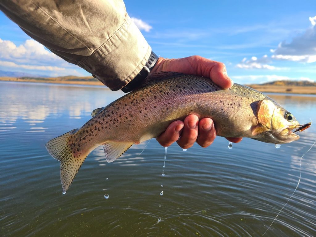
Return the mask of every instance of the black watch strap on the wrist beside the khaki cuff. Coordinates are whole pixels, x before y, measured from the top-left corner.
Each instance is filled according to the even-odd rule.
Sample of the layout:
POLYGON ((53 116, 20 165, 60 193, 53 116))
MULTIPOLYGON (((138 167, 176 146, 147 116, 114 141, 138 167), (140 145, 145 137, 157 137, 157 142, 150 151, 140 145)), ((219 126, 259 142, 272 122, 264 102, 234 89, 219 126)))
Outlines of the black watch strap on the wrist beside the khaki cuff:
POLYGON ((134 88, 137 88, 143 80, 148 76, 150 71, 153 69, 155 64, 157 63, 158 56, 151 51, 150 57, 143 67, 143 69, 121 90, 125 93, 132 91, 134 88))

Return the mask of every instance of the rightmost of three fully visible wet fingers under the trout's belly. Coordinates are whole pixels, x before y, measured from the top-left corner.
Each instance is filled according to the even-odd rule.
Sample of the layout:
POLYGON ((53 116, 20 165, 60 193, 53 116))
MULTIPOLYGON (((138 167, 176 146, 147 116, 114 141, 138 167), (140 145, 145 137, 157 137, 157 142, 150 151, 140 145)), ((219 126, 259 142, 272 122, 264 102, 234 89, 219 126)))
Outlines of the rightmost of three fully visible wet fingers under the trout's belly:
POLYGON ((208 147, 216 137, 213 120, 210 118, 201 119, 198 123, 197 144, 201 147, 208 147))

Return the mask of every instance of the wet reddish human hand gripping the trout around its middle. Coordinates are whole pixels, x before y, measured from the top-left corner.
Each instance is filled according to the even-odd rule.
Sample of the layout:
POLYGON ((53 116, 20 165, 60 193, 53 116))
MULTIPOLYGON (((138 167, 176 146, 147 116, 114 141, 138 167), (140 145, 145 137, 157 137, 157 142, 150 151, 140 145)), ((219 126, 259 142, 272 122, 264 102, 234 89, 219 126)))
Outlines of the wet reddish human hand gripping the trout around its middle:
MULTIPOLYGON (((156 71, 173 71, 212 78, 214 83, 225 89, 233 85, 223 63, 200 56, 177 59, 159 58, 151 72, 156 71)), ((197 142, 201 147, 208 147, 213 143, 215 137, 216 130, 212 119, 203 118, 199 121, 196 115, 191 114, 183 122, 178 120, 171 123, 166 131, 156 139, 164 147, 177 142, 183 149, 188 149, 194 142, 197 142)), ((226 139, 239 143, 242 138, 226 137, 226 139)))

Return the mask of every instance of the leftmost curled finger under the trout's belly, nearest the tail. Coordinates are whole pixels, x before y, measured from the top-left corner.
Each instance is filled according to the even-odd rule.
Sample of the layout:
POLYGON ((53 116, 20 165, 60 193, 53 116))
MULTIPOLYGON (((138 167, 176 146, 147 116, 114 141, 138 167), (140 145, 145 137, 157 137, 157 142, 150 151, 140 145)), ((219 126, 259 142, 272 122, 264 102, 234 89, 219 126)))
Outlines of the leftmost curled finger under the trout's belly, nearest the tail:
POLYGON ((179 139, 183 127, 184 124, 182 121, 174 121, 167 127, 166 131, 156 138, 156 140, 161 146, 168 147, 179 139))

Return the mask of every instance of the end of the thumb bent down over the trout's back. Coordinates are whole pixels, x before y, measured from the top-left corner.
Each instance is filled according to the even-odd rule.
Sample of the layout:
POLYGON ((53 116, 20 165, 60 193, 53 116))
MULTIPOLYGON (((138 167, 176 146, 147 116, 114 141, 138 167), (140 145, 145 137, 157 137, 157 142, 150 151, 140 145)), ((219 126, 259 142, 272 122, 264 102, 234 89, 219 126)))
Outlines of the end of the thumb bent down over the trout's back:
POLYGON ((217 62, 210 71, 211 80, 222 88, 230 88, 234 82, 227 75, 225 64, 217 62))

